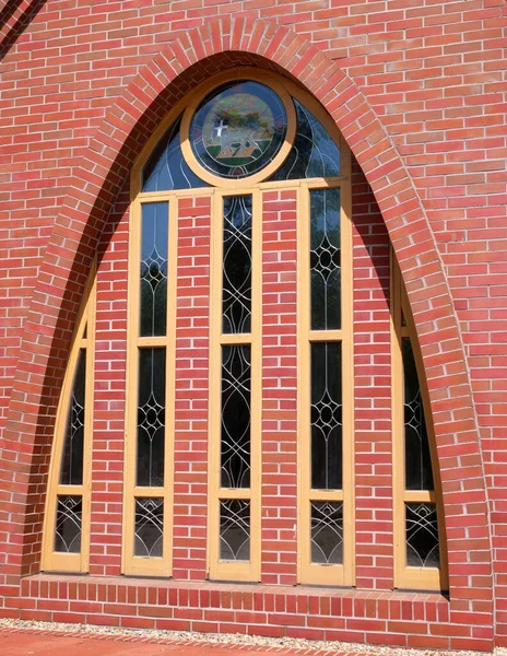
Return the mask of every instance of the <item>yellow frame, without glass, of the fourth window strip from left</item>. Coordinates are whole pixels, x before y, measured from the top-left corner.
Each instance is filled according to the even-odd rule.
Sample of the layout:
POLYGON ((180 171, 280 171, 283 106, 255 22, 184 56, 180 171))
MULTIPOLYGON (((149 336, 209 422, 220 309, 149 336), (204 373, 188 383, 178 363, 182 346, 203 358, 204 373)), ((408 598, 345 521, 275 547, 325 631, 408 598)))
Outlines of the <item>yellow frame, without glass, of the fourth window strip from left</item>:
POLYGON ((343 179, 300 180, 297 229, 297 414, 298 414, 298 581, 303 584, 354 584, 354 384, 353 384, 353 304, 352 304, 352 222, 350 157, 342 147, 343 179), (310 191, 340 189, 340 257, 342 271, 341 316, 339 330, 310 328, 310 191), (310 348, 313 342, 340 342, 342 352, 342 490, 311 489, 310 425, 310 348), (343 503, 343 564, 311 562, 310 503, 343 503))

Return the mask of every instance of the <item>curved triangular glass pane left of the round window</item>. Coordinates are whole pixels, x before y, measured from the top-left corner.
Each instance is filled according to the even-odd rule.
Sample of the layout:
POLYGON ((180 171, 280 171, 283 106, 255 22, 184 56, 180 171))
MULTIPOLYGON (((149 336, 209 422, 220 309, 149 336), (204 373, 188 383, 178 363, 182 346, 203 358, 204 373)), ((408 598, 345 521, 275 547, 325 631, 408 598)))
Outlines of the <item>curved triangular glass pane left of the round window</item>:
POLYGON ((143 192, 209 186, 192 172, 184 159, 179 137, 180 122, 179 118, 170 126, 150 156, 143 169, 143 192))

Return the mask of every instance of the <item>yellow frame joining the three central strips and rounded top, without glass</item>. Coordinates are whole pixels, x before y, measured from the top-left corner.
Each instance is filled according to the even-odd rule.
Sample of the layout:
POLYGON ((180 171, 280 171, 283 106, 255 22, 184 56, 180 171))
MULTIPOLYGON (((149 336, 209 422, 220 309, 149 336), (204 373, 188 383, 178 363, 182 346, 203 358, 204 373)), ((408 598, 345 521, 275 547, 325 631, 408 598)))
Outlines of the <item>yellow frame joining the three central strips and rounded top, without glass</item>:
MULTIPOLYGON (((284 145, 282 147, 281 153, 287 154, 295 136, 295 113, 294 110, 287 112, 287 136, 284 145)), ((137 350, 148 338, 137 337, 137 327, 139 323, 139 277, 138 277, 138 263, 139 263, 139 248, 140 248, 140 216, 141 216, 141 203, 143 202, 169 202, 169 224, 174 222, 177 225, 177 204, 178 199, 181 197, 210 197, 212 199, 211 210, 211 290, 210 290, 210 406, 209 406, 209 523, 208 523, 208 571, 210 578, 215 579, 234 579, 234 581, 259 581, 260 579, 260 522, 261 522, 261 399, 262 399, 262 371, 261 371, 261 321, 262 321, 262 308, 261 308, 261 265, 262 265, 262 195, 263 191, 293 189, 297 191, 298 202, 298 227, 302 223, 302 208, 306 208, 306 218, 308 218, 308 202, 309 202, 309 189, 316 188, 321 189, 326 187, 340 187, 341 188, 341 215, 342 215, 342 270, 349 270, 351 273, 347 277, 349 281, 345 283, 342 290, 342 320, 343 327, 340 331, 332 331, 333 337, 330 339, 342 341, 346 343, 349 348, 344 348, 342 351, 342 367, 343 367, 343 422, 344 422, 344 490, 335 494, 343 497, 344 501, 344 543, 345 543, 345 561, 346 564, 341 566, 332 566, 333 577, 332 583, 334 585, 352 585, 353 584, 353 571, 354 571, 354 529, 353 529, 353 514, 354 514, 354 490, 353 490, 353 345, 352 345, 352 229, 351 229, 351 192, 350 192, 350 167, 351 157, 350 151, 346 147, 343 138, 341 137, 337 126, 332 119, 326 114, 320 104, 311 98, 306 93, 302 92, 297 84, 294 84, 287 79, 282 79, 270 71, 252 68, 252 67, 238 67, 229 71, 224 71, 213 77, 212 80, 204 82, 197 86, 190 92, 182 103, 175 106, 165 119, 160 124, 157 129, 154 131, 145 147, 143 148, 140 156, 138 157, 131 176, 131 229, 130 229, 130 254, 129 254, 129 269, 131 271, 131 279, 129 281, 129 328, 128 328, 128 355, 127 355, 127 427, 126 427, 126 477, 125 477, 125 490, 126 490, 126 503, 123 513, 123 572, 127 574, 140 574, 140 575, 164 575, 168 576, 172 573, 172 555, 170 549, 166 549, 167 544, 170 544, 173 539, 173 526, 172 516, 167 516, 167 509, 172 506, 173 497, 173 458, 174 458, 174 360, 175 360, 175 325, 169 328, 169 321, 167 324, 167 339, 165 338, 149 338, 154 340, 153 342, 146 341, 144 345, 162 345, 163 342, 166 345, 167 353, 167 367, 168 377, 166 382, 166 467, 169 467, 165 472, 165 485, 164 489, 146 489, 142 488, 142 491, 137 491, 133 484, 135 476, 135 435, 137 435, 137 350), (341 175, 337 178, 308 178, 308 179, 290 179, 282 181, 262 181, 268 178, 281 163, 281 157, 284 155, 276 156, 275 161, 270 163, 259 174, 250 176, 244 179, 222 179, 211 174, 203 172, 202 167, 197 163, 196 157, 190 148, 188 140, 189 122, 192 113, 199 106, 199 103, 207 94, 214 87, 237 79, 249 79, 259 81, 263 84, 268 84, 279 93, 281 98, 286 102, 287 94, 296 97, 302 102, 320 122, 326 127, 329 133, 333 137, 334 141, 341 151, 341 175), (142 169, 149 160, 151 153, 155 149, 160 139, 164 136, 170 125, 182 115, 181 119, 181 151, 190 165, 192 171, 201 177, 201 179, 208 181, 216 187, 198 187, 191 189, 180 189, 170 191, 148 191, 142 192, 141 178, 142 169), (240 196, 251 195, 252 196, 252 267, 257 271, 252 274, 252 312, 251 312, 251 333, 249 335, 222 335, 221 330, 221 317, 222 317, 222 262, 219 254, 222 254, 222 229, 223 229, 223 198, 225 196, 240 196), (174 214, 176 212, 176 214, 174 214), (169 336, 169 332, 172 335, 169 336), (334 333, 337 333, 334 336, 334 333), (160 340, 160 341, 158 341, 160 340), (173 344, 169 345, 169 342, 173 344), (238 489, 229 490, 222 489, 220 487, 220 422, 221 422, 221 348, 222 345, 233 343, 248 343, 251 344, 251 479, 250 488, 248 490, 238 489), (170 364, 169 364, 170 363, 170 364), (169 371, 169 366, 170 368, 169 371), (170 376, 170 377, 169 377, 170 376), (345 387, 347 388, 345 391, 345 387), (170 396, 173 395, 173 396, 170 396), (170 402, 169 402, 170 401, 170 402), (169 423, 170 421, 170 423, 169 423), (345 427, 346 425, 346 427, 345 427), (346 481, 346 482, 345 482, 346 481), (345 490, 346 488, 346 490, 345 490), (151 490, 152 496, 161 497, 164 495, 164 555, 163 559, 134 559, 133 552, 133 497, 139 492, 139 495, 148 496, 146 492, 151 490), (142 492, 142 494, 141 494, 142 492), (250 500, 250 561, 249 562, 229 562, 220 561, 220 501, 232 500, 232 499, 248 499, 250 500), (346 508, 346 509, 345 509, 346 508), (167 536, 165 535, 167 534, 167 536), (150 563, 148 561, 156 561, 157 563, 150 563), (148 566, 146 566, 148 565, 148 566)), ((298 230, 298 234, 299 234, 298 230)), ((177 227, 173 229, 173 238, 170 236, 169 225, 169 243, 177 244, 177 227)), ((308 237, 307 237, 308 238, 308 237)), ((298 237, 299 239, 299 237, 298 237)), ((299 242, 298 242, 299 244, 299 242)), ((169 247, 169 259, 170 248, 169 247)), ((306 247, 306 246, 305 246, 306 247)), ((298 246, 298 253, 302 253, 300 246, 298 246)), ((307 257, 309 254, 307 254, 307 257)), ((176 257, 170 259, 170 262, 176 262, 176 257)), ((176 270, 170 269, 169 262, 169 285, 170 280, 176 281, 176 270)), ((300 265, 298 265, 298 289, 300 286, 300 265)), ((309 269, 307 276, 309 277, 309 269)), ((173 283, 175 284, 175 282, 173 283)), ((169 293, 169 292, 168 292, 169 293)), ((175 290, 172 293, 176 293, 175 290)), ((298 304, 299 304, 299 292, 298 292, 298 304)), ((172 296, 173 301, 169 300, 168 307, 176 307, 176 296, 172 296)), ((309 303, 309 296, 307 296, 305 303, 309 303)), ((175 320, 175 315, 173 319, 175 320)), ((298 326, 300 324, 299 309, 298 309, 298 326)), ((309 326, 309 324, 308 324, 309 326)), ((299 328, 298 328, 299 330, 299 328)), ((308 336, 307 336, 308 338, 308 336)), ((320 339, 318 336, 316 339, 320 339)), ((326 339, 322 337, 321 339, 326 339)), ((308 339, 307 339, 308 341, 308 339)), ((300 343, 300 338, 298 338, 300 343)), ((302 362, 302 361, 299 361, 302 362)), ((298 366, 298 370, 302 367, 298 366)), ((304 385, 309 386, 309 367, 306 367, 306 378, 304 385)), ((302 374, 298 374, 298 380, 303 380, 302 374)), ((300 397, 300 391, 299 391, 300 397)), ((305 398, 305 402, 307 401, 305 398)), ((300 402, 298 403, 300 407, 300 402)), ((298 433, 300 434, 300 417, 298 414, 298 433)), ((309 430, 309 425, 308 425, 309 430)), ((300 435, 298 437, 298 448, 300 447, 300 435)), ((299 452, 302 453, 302 452, 299 452)), ((298 461, 298 484, 303 480, 300 464, 303 460, 307 460, 299 455, 298 461)), ((303 465, 304 467, 304 465, 303 465)), ((309 480, 309 479, 308 479, 309 480)), ((299 494, 299 493, 298 493, 299 494)), ((334 494, 334 492, 332 493, 334 494)), ((323 495, 326 499, 326 494, 323 495)), ((303 520, 300 514, 300 496, 298 496, 298 522, 299 522, 299 536, 300 522, 303 520)), ((306 496, 308 499, 308 496, 306 496)), ((308 536, 308 547, 306 553, 308 554, 309 549, 309 523, 306 530, 308 536)), ((303 547, 303 538, 299 538, 299 549, 302 553, 305 553, 305 547, 303 547)), ((300 560, 300 559, 299 559, 300 560)), ((302 583, 326 583, 329 584, 329 565, 313 565, 309 569, 305 567, 305 574, 302 577, 302 567, 299 567, 299 578, 302 583), (307 571, 308 570, 308 571, 307 571), (313 572, 315 574, 313 574, 313 572)))

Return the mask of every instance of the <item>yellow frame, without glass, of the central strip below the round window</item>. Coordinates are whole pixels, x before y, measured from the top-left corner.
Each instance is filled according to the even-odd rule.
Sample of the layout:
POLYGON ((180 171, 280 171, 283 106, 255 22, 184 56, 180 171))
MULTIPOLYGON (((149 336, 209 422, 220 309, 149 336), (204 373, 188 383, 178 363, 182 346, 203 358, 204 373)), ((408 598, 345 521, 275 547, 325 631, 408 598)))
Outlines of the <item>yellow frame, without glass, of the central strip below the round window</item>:
POLYGON ((261 503, 261 412, 262 412, 262 203, 259 188, 217 190, 211 220, 211 293, 210 293, 210 405, 209 405, 209 575, 213 579, 260 579, 260 503, 261 503), (252 197, 251 230, 251 332, 222 332, 223 225, 226 196, 252 197), (221 487, 221 410, 222 348, 249 344, 250 362, 250 488, 221 487), (221 501, 250 502, 250 560, 220 559, 221 501))

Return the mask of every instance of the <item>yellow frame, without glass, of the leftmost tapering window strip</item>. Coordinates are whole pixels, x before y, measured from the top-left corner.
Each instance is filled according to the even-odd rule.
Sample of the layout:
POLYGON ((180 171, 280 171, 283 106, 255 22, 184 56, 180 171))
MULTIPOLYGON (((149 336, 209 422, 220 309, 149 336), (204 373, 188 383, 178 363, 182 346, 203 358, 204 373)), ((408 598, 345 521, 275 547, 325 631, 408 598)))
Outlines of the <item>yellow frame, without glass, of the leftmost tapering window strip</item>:
POLYGON ((46 495, 40 559, 40 569, 46 572, 84 573, 89 569, 95 370, 95 271, 96 267, 94 263, 85 286, 83 302, 78 314, 55 422, 55 438, 51 447, 51 459, 48 472, 48 490, 46 495), (72 388, 74 384, 74 375, 78 367, 79 355, 82 350, 84 350, 86 353, 83 429, 83 480, 79 485, 67 485, 60 483, 60 471, 63 450, 66 447, 66 433, 72 388), (63 495, 75 495, 81 496, 82 499, 80 553, 55 551, 57 502, 58 497, 63 495))

